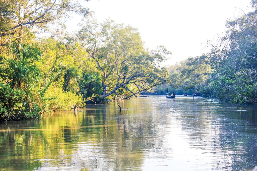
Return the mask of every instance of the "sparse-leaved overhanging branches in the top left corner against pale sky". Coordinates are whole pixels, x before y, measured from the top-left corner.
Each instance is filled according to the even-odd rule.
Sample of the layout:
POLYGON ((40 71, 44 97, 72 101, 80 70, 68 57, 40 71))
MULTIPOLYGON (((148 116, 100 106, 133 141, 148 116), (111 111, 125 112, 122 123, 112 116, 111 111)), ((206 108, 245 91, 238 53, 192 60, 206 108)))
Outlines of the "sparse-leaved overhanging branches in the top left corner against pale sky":
POLYGON ((62 25, 68 12, 82 16, 89 12, 77 0, 1 0, 0 10, 0 46, 12 38, 22 39, 31 31, 49 31, 49 24, 62 25))

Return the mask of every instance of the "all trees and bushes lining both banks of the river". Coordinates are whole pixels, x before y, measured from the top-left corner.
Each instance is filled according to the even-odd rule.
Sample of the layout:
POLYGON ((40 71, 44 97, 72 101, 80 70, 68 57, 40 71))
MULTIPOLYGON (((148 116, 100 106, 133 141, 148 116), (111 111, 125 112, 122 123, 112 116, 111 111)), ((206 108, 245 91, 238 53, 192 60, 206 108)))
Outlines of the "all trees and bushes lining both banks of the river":
POLYGON ((161 67, 171 53, 144 48, 140 33, 111 19, 98 22, 79 1, 0 2, 0 120, 40 118, 85 102, 196 93, 230 103, 257 103, 255 10, 227 22, 209 53, 161 67), (71 13, 80 29, 63 33, 71 13), (54 29, 56 28, 56 29, 54 29), (52 33, 50 37, 38 36, 52 33))

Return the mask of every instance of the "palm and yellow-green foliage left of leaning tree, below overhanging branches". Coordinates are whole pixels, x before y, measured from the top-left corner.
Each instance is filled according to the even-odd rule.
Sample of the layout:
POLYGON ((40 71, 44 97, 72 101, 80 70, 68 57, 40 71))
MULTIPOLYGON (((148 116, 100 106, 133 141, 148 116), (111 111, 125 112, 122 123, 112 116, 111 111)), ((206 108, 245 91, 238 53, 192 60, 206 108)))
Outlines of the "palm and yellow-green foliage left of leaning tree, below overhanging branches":
MULTIPOLYGON (((49 45, 52 49, 41 47, 42 50, 37 44, 12 43, 9 46, 8 58, 1 57, 0 80, 12 90, 10 90, 12 94, 7 94, 6 97, 13 96, 14 98, 11 99, 14 102, 10 105, 6 104, 6 101, 1 103, 2 120, 38 118, 42 112, 68 110, 74 105, 84 106, 82 96, 76 94, 79 89, 72 91, 74 84, 71 84, 71 80, 74 83, 79 78, 79 74, 76 73, 80 72, 79 67, 83 63, 78 65, 76 60, 81 58, 81 54, 80 56, 73 54, 77 55, 77 58, 72 57, 70 52, 74 49, 65 46, 62 42, 50 40, 52 41, 45 45, 49 45), (54 58, 49 56, 52 55, 51 51, 54 51, 54 58), (47 54, 47 52, 50 53, 47 54), (48 67, 48 64, 51 65, 48 67), (74 73, 74 71, 78 72, 74 73), (65 80, 64 76, 66 76, 65 80), (57 78, 61 79, 55 81, 57 78), (66 87, 66 91, 64 90, 65 81, 69 85, 68 88, 66 87), (48 90, 53 83, 54 88, 48 90), (19 94, 21 92, 23 94, 19 94), (16 101, 17 103, 15 103, 16 101), (15 107, 15 110, 12 107, 15 107)), ((78 83, 75 84, 78 85, 78 83)))

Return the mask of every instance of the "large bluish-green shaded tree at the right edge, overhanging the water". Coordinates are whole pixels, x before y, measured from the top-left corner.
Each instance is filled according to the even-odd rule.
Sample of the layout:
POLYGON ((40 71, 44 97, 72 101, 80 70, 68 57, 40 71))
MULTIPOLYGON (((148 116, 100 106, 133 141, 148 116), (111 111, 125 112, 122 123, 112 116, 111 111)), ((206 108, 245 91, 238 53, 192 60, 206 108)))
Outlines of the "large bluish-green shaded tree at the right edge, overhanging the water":
POLYGON ((213 96, 231 103, 257 103, 257 1, 253 12, 227 22, 228 31, 209 53, 213 96))

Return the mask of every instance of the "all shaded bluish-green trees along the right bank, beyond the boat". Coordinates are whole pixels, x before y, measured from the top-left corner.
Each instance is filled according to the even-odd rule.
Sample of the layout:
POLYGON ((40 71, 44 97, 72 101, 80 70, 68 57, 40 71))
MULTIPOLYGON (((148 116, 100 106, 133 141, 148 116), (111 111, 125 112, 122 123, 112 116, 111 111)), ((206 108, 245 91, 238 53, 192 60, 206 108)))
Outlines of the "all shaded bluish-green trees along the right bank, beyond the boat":
POLYGON ((209 53, 168 66, 171 83, 156 92, 170 86, 180 95, 196 93, 233 104, 257 104, 257 2, 251 5, 253 12, 227 21, 225 36, 210 45, 209 53))

